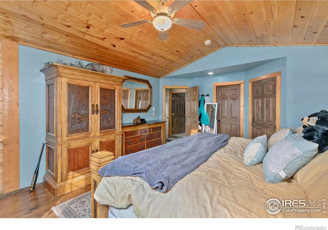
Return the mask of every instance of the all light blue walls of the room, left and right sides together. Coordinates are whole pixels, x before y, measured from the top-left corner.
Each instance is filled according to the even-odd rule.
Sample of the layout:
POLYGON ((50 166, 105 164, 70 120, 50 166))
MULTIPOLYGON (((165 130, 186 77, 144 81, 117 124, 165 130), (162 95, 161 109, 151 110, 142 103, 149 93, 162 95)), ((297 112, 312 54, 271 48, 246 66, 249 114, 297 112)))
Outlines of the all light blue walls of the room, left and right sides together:
MULTIPOLYGON (((249 79, 281 71, 281 127, 301 125, 300 119, 321 109, 328 110, 328 46, 316 47, 239 47, 224 48, 204 57, 171 75, 210 70, 248 62, 279 58, 244 72, 205 78, 153 78, 113 68, 113 75, 129 75, 149 80, 153 87, 152 109, 147 113, 124 113, 122 122, 129 123, 137 116, 146 121, 162 118, 162 87, 166 85, 199 86, 200 94, 213 98, 213 83, 240 81, 245 83, 245 137, 248 136, 248 81, 249 79)), ((44 62, 74 63, 76 59, 19 46, 19 113, 20 113, 20 188, 30 186, 37 159, 45 142, 46 95, 45 78, 39 72, 44 62)), ((87 64, 88 62, 84 62, 87 64)), ((43 181, 45 155, 40 165, 37 183, 43 181)))

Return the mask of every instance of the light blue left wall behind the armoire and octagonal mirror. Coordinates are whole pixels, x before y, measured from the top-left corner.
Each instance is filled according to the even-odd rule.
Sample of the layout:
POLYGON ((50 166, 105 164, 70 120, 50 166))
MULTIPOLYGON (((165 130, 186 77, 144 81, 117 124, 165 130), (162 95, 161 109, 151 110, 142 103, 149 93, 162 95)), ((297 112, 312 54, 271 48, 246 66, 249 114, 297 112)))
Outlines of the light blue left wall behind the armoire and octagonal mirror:
MULTIPOLYGON (((42 143, 46 138, 46 81, 40 69, 48 61, 56 62, 60 59, 63 62, 75 63, 75 58, 45 52, 19 45, 19 187, 25 188, 31 185, 32 176, 39 158, 42 143)), ((86 65, 89 62, 83 61, 86 65)), ((113 68, 113 75, 144 78, 149 80, 154 91, 158 91, 159 79, 145 75, 135 74, 129 71, 113 68)), ((159 97, 153 94, 153 104, 159 104, 159 97)), ((159 111, 155 109, 148 113, 123 113, 122 122, 132 122, 133 118, 140 116, 147 120, 158 120, 159 111)), ((43 181, 46 173, 46 157, 43 152, 40 163, 37 183, 43 181)))

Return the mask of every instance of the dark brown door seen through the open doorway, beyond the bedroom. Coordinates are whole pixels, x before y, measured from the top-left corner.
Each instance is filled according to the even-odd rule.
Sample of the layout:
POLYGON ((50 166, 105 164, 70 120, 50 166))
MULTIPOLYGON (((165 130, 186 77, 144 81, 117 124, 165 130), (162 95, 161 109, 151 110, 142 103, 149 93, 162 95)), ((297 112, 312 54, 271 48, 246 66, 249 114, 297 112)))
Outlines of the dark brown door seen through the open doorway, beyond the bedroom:
POLYGON ((186 131, 185 93, 172 94, 172 134, 186 131))

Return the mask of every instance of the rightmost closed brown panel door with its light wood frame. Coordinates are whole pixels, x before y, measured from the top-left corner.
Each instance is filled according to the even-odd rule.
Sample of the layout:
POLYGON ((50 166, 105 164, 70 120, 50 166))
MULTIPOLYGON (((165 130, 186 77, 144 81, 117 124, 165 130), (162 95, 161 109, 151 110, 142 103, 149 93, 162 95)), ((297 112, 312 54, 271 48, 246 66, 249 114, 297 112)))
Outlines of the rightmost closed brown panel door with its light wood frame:
POLYGON ((280 73, 251 79, 250 103, 250 138, 266 134, 269 139, 280 128, 280 73))

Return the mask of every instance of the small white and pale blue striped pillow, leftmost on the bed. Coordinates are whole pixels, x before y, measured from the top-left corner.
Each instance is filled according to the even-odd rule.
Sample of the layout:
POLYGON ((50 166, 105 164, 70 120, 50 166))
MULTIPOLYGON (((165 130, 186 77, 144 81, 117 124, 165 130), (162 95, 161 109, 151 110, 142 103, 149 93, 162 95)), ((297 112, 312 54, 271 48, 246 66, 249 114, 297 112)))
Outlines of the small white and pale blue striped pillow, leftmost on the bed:
POLYGON ((262 135, 255 137, 251 141, 244 151, 244 165, 253 166, 262 162, 265 154, 267 153, 267 144, 268 138, 267 135, 262 135))

